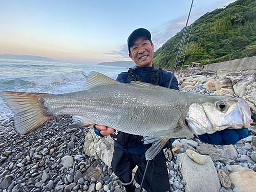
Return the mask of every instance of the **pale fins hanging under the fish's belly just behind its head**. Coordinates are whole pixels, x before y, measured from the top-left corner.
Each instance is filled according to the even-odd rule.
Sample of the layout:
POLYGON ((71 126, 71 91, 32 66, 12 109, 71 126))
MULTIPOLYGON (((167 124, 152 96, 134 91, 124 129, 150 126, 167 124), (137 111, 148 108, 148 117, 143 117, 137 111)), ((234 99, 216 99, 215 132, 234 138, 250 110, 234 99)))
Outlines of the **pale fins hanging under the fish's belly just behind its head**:
POLYGON ((143 144, 152 144, 150 148, 145 153, 146 160, 152 160, 156 155, 162 150, 164 145, 167 143, 169 138, 160 137, 143 137, 143 144))

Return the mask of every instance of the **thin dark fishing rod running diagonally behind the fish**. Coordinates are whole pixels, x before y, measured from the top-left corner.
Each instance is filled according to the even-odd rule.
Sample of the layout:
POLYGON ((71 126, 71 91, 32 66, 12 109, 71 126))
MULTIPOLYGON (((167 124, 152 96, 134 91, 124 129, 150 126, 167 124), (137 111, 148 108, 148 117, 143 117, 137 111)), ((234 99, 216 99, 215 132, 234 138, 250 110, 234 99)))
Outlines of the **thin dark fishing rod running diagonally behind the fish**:
MULTIPOLYGON (((192 0, 191 6, 190 6, 190 10, 189 10, 189 13, 188 13, 188 16, 187 16, 186 26, 185 26, 185 29, 184 29, 184 32, 183 32, 183 35, 182 35, 182 39, 181 39, 181 42, 180 42, 180 48, 179 48, 178 55, 177 55, 177 58, 176 58, 176 61, 175 61, 175 65, 174 65, 173 75, 170 78, 170 82, 169 82, 168 88, 170 88, 170 84, 172 84, 172 81, 173 81, 173 78, 174 78, 174 72, 175 72, 175 69, 176 69, 176 66, 177 66, 178 58, 180 56, 180 50, 181 50, 181 47, 182 47, 182 44, 183 44, 183 40, 184 40, 184 36, 185 36, 185 33, 186 33, 189 16, 190 16, 190 13, 191 13, 191 9, 193 7, 193 2, 194 2, 194 0, 192 0)), ((147 168, 148 168, 148 164, 150 164, 149 162, 150 162, 150 160, 147 160, 146 167, 145 167, 144 174, 143 174, 143 178, 142 178, 142 181, 141 181, 141 184, 140 184, 139 192, 142 192, 142 187, 143 187, 143 184, 144 184, 144 180, 145 180, 145 176, 146 176, 146 171, 147 171, 147 168)))

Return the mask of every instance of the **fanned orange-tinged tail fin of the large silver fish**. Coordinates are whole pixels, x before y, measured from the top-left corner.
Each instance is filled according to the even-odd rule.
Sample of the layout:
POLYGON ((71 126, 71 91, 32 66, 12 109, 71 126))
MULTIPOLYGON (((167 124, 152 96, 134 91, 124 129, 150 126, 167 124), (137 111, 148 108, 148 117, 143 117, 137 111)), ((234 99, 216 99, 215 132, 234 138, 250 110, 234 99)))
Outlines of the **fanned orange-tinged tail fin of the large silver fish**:
POLYGON ((20 135, 27 135, 54 116, 49 114, 40 98, 46 93, 0 92, 0 96, 14 114, 14 127, 20 135))

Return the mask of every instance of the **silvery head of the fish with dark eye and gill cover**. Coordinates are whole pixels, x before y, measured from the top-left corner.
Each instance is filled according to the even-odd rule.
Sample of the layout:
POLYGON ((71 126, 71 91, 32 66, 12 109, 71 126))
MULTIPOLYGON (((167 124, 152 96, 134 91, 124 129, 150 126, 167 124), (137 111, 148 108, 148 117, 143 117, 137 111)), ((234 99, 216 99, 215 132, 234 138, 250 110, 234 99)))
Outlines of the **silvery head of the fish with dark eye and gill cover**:
POLYGON ((225 96, 212 96, 208 101, 194 102, 185 118, 185 124, 196 135, 248 128, 252 122, 249 105, 243 98, 225 96))

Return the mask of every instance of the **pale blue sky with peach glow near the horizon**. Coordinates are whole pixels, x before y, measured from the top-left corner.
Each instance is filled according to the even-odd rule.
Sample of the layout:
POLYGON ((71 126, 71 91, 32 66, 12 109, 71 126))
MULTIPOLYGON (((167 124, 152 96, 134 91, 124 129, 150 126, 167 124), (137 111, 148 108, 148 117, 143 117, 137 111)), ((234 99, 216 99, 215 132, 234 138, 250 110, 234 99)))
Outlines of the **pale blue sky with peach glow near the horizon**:
MULTIPOLYGON (((234 0, 194 0, 189 24, 234 0)), ((0 54, 97 64, 131 60, 127 37, 152 33, 155 51, 185 27, 189 0, 0 0, 0 54)))

